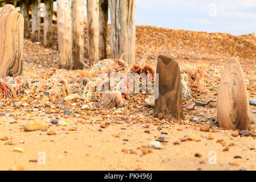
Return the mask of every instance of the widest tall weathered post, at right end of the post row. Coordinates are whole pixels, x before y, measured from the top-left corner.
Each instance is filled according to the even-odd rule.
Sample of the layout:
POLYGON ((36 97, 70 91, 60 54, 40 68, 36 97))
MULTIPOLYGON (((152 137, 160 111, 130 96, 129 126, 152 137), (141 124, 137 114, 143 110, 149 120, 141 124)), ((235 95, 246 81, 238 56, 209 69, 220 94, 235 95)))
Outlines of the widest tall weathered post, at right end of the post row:
POLYGON ((135 15, 137 0, 109 0, 111 33, 111 56, 135 64, 135 15))

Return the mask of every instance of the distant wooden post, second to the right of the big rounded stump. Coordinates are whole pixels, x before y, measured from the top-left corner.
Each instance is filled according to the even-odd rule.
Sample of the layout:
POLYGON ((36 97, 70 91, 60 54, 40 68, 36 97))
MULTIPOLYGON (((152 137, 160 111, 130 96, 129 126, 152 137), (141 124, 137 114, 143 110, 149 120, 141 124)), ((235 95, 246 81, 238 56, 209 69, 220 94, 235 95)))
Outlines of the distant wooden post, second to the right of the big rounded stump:
POLYGON ((40 0, 31 1, 31 11, 32 11, 32 42, 40 41, 40 16, 38 5, 40 0))

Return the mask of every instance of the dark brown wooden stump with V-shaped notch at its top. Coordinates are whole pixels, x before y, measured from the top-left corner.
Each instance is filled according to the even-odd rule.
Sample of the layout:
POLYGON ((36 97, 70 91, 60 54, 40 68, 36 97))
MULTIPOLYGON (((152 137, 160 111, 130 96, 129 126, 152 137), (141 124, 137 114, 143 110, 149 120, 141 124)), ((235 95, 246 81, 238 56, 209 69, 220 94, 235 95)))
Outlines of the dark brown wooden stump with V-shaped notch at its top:
POLYGON ((159 74, 159 85, 155 85, 155 92, 159 92, 154 117, 180 121, 184 116, 179 64, 170 56, 159 55, 156 74, 159 74))

